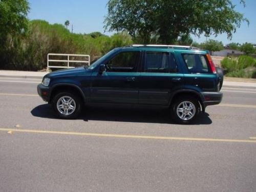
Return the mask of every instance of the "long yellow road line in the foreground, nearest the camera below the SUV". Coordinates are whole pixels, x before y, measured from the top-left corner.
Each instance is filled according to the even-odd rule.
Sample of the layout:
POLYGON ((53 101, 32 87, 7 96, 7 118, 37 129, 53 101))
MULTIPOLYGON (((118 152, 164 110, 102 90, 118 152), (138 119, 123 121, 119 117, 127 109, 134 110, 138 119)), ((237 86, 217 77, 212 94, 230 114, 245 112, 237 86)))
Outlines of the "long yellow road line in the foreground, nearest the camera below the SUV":
POLYGON ((24 132, 24 133, 42 133, 42 134, 58 134, 58 135, 79 135, 79 136, 94 136, 94 137, 134 138, 134 139, 158 139, 158 140, 180 140, 180 141, 213 141, 213 142, 256 143, 256 140, 243 140, 243 139, 161 137, 161 136, 147 136, 147 135, 116 135, 116 134, 61 132, 61 131, 44 131, 44 130, 22 130, 22 129, 6 129, 6 128, 0 128, 0 131, 7 131, 7 132, 12 131, 12 132, 24 132))

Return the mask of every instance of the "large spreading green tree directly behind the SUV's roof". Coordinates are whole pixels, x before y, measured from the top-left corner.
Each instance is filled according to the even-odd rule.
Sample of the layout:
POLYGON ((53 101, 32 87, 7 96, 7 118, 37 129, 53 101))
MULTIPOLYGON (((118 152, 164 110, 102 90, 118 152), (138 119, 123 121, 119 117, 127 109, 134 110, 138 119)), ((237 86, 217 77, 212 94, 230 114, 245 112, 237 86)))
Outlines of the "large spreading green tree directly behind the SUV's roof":
POLYGON ((128 31, 145 44, 156 35, 163 44, 173 44, 183 34, 226 33, 231 38, 242 22, 248 22, 230 0, 110 0, 107 6, 105 30, 128 31))

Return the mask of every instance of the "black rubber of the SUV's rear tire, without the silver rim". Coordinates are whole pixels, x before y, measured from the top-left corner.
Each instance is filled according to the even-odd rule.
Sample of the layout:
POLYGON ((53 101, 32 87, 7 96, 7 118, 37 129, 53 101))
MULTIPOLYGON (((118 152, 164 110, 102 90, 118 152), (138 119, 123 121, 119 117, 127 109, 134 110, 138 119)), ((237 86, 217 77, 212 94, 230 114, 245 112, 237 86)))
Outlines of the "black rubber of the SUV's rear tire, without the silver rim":
MULTIPOLYGON (((190 106, 190 105, 189 105, 190 106)), ((171 115, 172 115, 172 119, 175 120, 177 123, 180 123, 180 124, 189 124, 191 122, 193 122, 197 115, 199 114, 200 112, 200 104, 199 104, 199 101, 194 98, 194 97, 190 97, 190 96, 186 96, 186 97, 182 97, 182 98, 178 98, 176 99, 172 106, 171 106, 171 115), (193 111, 193 114, 194 116, 192 116, 191 118, 187 118, 185 119, 185 117, 187 117, 187 115, 184 117, 184 119, 182 119, 181 117, 179 117, 178 115, 178 112, 177 112, 177 108, 178 106, 184 102, 184 101, 188 101, 190 103, 193 103, 193 105, 195 106, 195 114, 194 114, 194 110, 193 111)), ((182 112, 179 112, 179 114, 181 114, 182 112)))

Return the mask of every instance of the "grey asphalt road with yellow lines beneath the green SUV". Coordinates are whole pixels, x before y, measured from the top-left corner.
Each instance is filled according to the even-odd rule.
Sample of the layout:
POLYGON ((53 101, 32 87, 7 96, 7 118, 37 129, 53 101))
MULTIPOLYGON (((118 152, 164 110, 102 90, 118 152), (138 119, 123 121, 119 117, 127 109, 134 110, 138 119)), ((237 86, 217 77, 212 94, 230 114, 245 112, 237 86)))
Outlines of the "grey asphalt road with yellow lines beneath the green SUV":
POLYGON ((60 120, 37 82, 0 78, 0 191, 256 191, 255 88, 178 125, 134 108, 60 120))

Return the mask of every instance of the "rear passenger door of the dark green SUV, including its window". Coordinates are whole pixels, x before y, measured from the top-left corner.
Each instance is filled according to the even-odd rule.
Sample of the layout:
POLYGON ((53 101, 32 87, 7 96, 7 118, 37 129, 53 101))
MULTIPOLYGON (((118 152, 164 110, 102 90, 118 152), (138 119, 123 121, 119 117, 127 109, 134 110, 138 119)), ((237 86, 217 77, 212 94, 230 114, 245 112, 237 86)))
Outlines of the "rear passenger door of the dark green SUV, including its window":
POLYGON ((167 105, 170 95, 183 86, 183 73, 170 52, 146 51, 139 77, 139 104, 167 105))

